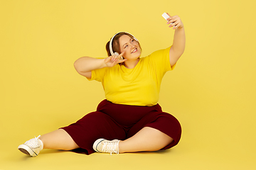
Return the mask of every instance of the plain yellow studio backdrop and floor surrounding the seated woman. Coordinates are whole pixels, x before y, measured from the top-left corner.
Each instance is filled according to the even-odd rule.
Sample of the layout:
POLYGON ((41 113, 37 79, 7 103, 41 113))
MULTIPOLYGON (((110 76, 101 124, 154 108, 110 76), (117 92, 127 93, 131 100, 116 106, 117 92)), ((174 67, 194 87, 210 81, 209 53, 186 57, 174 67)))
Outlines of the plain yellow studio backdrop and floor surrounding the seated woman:
POLYGON ((256 169, 256 1, 0 1, 0 169, 256 169), (160 105, 180 120, 181 142, 165 152, 75 154, 18 145, 75 122, 105 98, 73 67, 106 57, 119 31, 142 56, 172 44, 161 14, 181 17, 186 51, 161 85, 160 105))

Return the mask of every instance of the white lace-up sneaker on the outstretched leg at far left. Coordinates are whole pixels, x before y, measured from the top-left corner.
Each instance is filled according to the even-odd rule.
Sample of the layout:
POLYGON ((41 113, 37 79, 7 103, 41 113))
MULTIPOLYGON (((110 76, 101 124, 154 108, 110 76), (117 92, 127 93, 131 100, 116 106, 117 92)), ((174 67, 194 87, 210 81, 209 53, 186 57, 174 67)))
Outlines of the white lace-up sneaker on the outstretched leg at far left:
POLYGON ((22 145, 19 145, 18 149, 24 154, 30 155, 31 157, 38 156, 41 149, 43 149, 43 142, 39 139, 39 137, 41 137, 41 135, 31 140, 28 140, 22 145))

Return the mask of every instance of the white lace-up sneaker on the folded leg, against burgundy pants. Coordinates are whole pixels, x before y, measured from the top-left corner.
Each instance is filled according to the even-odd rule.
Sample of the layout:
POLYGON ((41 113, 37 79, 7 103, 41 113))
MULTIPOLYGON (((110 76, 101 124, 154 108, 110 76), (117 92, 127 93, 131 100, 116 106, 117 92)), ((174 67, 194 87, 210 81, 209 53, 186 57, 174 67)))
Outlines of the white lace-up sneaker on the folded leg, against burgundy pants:
POLYGON ((119 141, 120 140, 105 140, 98 139, 93 144, 93 149, 96 152, 104 152, 104 153, 115 153, 119 154, 119 141))

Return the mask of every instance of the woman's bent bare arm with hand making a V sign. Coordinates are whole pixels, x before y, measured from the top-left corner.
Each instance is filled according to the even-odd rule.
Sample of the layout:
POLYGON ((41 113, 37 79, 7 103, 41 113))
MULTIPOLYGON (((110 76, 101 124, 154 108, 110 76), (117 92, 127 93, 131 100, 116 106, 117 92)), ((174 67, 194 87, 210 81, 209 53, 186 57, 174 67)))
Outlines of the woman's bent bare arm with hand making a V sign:
POLYGON ((81 57, 75 61, 75 70, 84 77, 90 79, 92 77, 92 70, 102 69, 104 67, 113 67, 117 63, 124 62, 125 60, 119 60, 124 52, 119 56, 110 56, 105 59, 97 59, 92 57, 81 57))

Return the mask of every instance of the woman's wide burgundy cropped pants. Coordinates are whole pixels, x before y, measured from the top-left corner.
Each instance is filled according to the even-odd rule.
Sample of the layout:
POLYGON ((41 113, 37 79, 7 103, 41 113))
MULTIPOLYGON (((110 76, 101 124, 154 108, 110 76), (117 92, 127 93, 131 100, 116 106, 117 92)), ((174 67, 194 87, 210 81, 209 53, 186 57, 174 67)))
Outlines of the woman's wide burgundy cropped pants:
POLYGON ((114 104, 104 100, 97 106, 97 111, 88 113, 83 118, 62 128, 80 147, 74 152, 92 154, 95 140, 126 140, 144 127, 151 127, 174 139, 162 149, 169 149, 178 144, 181 138, 181 125, 173 115, 161 111, 155 106, 129 106, 114 104))

